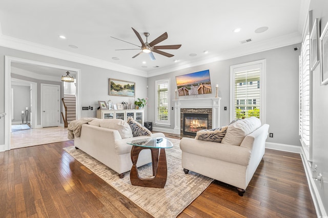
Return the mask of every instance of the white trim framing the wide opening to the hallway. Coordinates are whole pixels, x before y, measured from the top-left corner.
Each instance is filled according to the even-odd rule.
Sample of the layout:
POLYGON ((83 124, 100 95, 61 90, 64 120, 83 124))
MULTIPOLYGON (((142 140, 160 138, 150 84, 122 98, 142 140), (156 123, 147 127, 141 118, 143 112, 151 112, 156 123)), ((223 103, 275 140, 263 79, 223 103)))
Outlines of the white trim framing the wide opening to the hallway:
MULTIPOLYGON (((3 146, 0 145, 0 152, 1 151, 7 151, 10 150, 10 132, 11 132, 11 68, 14 63, 19 64, 26 64, 30 66, 36 66, 36 67, 46 67, 46 68, 53 68, 53 69, 61 69, 61 70, 69 70, 75 72, 75 79, 76 79, 76 118, 80 118, 80 75, 81 70, 78 68, 68 67, 68 66, 61 66, 61 65, 55 65, 45 62, 38 62, 38 61, 32 61, 28 59, 22 59, 22 58, 16 58, 16 57, 10 57, 5 56, 5 112, 7 113, 7 116, 5 116, 5 144, 3 146)), ((65 75, 65 74, 63 74, 65 75)), ((60 75, 61 76, 61 75, 60 75)), ((56 76, 59 78, 60 76, 56 76)), ((40 92, 39 92, 40 94, 40 92)), ((60 99, 60 97, 59 97, 60 99)), ((40 101, 40 100, 39 100, 40 101)), ((59 101, 60 102, 60 101, 59 101)), ((59 103, 60 105, 60 103, 59 103)), ((60 106, 59 106, 60 111, 60 106)), ((40 109, 35 108, 33 110, 35 117, 41 117, 40 116, 40 109)), ((60 114, 60 113, 58 113, 60 114)), ((60 117, 58 115, 58 120, 60 123, 60 117)), ((35 123, 35 128, 42 128, 42 123, 40 123, 40 119, 38 123, 35 123)))

